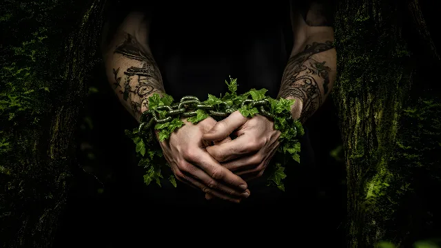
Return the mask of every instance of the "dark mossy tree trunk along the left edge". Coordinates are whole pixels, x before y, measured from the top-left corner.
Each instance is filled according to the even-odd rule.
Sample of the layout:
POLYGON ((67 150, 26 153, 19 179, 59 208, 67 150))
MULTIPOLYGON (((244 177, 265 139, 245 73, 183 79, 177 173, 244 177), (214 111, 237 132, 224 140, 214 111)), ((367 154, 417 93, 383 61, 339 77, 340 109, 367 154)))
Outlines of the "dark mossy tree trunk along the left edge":
POLYGON ((52 245, 104 3, 1 3, 0 247, 52 245))

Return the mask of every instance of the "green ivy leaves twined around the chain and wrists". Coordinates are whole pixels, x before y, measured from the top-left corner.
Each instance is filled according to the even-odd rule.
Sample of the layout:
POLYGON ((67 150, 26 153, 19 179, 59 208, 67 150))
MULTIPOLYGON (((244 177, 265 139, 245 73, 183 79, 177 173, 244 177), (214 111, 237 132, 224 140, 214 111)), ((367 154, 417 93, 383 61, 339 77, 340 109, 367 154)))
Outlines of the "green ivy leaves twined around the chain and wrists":
MULTIPOLYGON (((243 104, 246 100, 253 101, 268 101, 269 111, 274 116, 274 129, 280 131, 280 146, 278 147, 278 152, 281 154, 289 155, 291 160, 300 163, 300 157, 298 152, 300 152, 300 143, 297 137, 303 135, 304 131, 300 121, 294 121, 291 117, 291 105, 294 104, 294 100, 287 99, 272 99, 269 96, 265 96, 267 90, 252 89, 245 94, 236 94, 237 83, 236 79, 230 79, 230 82, 225 81, 228 85, 229 92, 225 93, 224 96, 219 98, 208 94, 208 99, 204 101, 206 105, 214 106, 217 112, 227 112, 232 113, 236 110, 240 112, 245 117, 253 117, 255 114, 259 113, 257 107, 252 104, 243 104)), ((163 97, 159 94, 154 94, 149 98, 149 108, 154 110, 161 118, 165 117, 164 110, 158 110, 158 107, 164 105, 172 105, 174 99, 172 96, 164 94, 163 97)), ((203 121, 205 118, 209 117, 209 113, 205 110, 196 110, 196 115, 187 118, 190 123, 196 124, 203 121)), ((157 123, 154 126, 154 130, 158 130, 158 140, 160 142, 165 141, 170 135, 179 127, 185 125, 181 121, 181 116, 174 116, 172 121, 166 123, 157 123)), ((147 169, 147 174, 144 176, 144 182, 149 185, 152 181, 155 181, 161 186, 161 178, 163 174, 161 173, 161 168, 163 165, 169 166, 165 159, 163 158, 163 153, 161 147, 156 143, 147 143, 145 137, 139 134, 139 129, 136 128, 132 132, 125 130, 127 136, 130 136, 134 143, 136 144, 136 152, 141 160, 139 165, 147 169)), ((283 179, 286 178, 284 172, 284 165, 289 161, 289 159, 283 159, 283 163, 275 163, 273 167, 269 167, 269 177, 268 185, 274 185, 280 190, 285 191, 285 185, 283 184, 283 179)), ((176 180, 173 175, 169 177, 170 182, 176 187, 176 180)))

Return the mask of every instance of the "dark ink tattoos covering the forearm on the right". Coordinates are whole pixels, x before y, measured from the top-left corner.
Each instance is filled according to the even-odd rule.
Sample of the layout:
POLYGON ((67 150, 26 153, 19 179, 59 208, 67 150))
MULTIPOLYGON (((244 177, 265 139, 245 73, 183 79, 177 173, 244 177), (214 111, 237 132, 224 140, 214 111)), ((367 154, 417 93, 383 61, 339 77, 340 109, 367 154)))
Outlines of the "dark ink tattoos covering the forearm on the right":
POLYGON ((325 43, 313 42, 305 50, 289 59, 278 96, 283 98, 296 97, 303 103, 300 121, 304 122, 314 114, 322 104, 322 99, 329 92, 329 72, 331 68, 326 61, 313 59, 314 54, 334 48, 331 41, 325 43), (322 81, 323 92, 320 92, 317 80, 322 81))

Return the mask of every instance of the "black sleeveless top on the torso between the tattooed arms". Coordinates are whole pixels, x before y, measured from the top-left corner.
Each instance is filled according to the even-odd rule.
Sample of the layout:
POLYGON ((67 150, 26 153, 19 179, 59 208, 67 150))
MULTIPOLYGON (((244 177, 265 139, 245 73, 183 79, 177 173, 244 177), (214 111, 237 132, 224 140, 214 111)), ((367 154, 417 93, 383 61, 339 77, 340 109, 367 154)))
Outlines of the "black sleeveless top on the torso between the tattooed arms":
POLYGON ((290 53, 289 2, 188 2, 154 8, 150 48, 165 92, 175 101, 185 95, 205 100, 227 92, 231 75, 238 93, 266 88, 276 97, 290 53))

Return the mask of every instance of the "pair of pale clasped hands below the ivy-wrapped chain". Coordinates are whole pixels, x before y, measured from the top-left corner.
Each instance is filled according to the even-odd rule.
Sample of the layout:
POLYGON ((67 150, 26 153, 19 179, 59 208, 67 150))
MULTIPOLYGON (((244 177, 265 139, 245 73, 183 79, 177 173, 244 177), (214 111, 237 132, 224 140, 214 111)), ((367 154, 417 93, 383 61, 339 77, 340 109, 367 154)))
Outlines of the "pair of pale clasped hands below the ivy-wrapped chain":
POLYGON ((247 198, 247 181, 262 176, 278 148, 280 132, 265 116, 246 118, 236 111, 222 121, 208 117, 183 127, 161 142, 176 178, 213 197, 239 203, 247 198), (237 136, 234 140, 231 134, 237 136))

